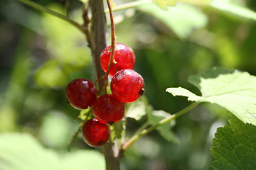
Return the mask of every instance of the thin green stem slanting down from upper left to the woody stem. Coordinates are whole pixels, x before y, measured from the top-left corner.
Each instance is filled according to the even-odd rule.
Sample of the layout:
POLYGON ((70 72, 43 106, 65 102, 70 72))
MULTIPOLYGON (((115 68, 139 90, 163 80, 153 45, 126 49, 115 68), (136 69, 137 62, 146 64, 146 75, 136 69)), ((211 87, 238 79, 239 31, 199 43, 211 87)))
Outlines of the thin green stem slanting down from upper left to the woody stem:
POLYGON ((39 11, 50 13, 53 16, 56 16, 56 17, 61 18, 61 19, 65 20, 65 21, 68 21, 68 23, 71 23, 73 26, 78 28, 78 30, 80 30, 80 31, 82 31, 82 33, 84 33, 85 29, 83 28, 83 26, 81 26, 79 23, 73 21, 72 19, 68 18, 67 16, 64 16, 64 15, 62 15, 60 13, 56 13, 55 11, 51 11, 50 9, 48 9, 48 8, 46 8, 44 6, 41 6, 41 5, 39 5, 39 4, 37 4, 36 2, 33 2, 33 1, 29 1, 29 0, 18 0, 18 1, 21 1, 23 4, 31 6, 32 8, 36 8, 39 11))

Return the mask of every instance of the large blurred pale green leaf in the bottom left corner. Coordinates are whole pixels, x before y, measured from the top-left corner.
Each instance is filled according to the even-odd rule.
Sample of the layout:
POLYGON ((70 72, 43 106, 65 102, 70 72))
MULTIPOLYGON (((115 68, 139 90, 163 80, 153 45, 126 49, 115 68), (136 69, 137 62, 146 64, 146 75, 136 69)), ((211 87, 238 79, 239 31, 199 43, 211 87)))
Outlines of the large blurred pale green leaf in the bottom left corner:
POLYGON ((28 134, 0 135, 0 166, 5 170, 105 169, 102 154, 92 150, 55 152, 42 147, 28 134))

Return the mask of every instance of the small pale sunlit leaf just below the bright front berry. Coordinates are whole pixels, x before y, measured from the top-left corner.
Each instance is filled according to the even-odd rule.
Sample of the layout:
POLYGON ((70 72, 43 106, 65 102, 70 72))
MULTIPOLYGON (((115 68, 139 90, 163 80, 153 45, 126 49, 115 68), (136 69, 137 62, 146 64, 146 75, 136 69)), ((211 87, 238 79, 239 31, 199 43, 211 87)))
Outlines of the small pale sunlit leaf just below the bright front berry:
POLYGON ((140 120, 144 115, 146 115, 146 108, 142 101, 135 101, 127 104, 127 111, 125 111, 126 118, 140 120))

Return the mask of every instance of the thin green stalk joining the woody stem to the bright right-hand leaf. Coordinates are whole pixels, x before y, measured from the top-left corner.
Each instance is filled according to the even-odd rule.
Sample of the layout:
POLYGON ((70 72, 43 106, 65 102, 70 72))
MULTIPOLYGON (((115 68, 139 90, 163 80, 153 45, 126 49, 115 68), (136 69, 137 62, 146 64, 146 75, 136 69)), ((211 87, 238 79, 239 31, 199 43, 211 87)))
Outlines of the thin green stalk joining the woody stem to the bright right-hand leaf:
POLYGON ((190 106, 184 108, 181 111, 178 111, 174 115, 171 115, 169 118, 164 118, 163 120, 161 120, 156 125, 152 125, 150 128, 142 130, 142 132, 140 132, 137 135, 134 135, 127 142, 125 142, 124 145, 122 146, 122 150, 127 149, 130 145, 132 145, 133 142, 139 140, 140 137, 142 137, 143 135, 146 135, 147 133, 151 132, 152 130, 155 130, 157 127, 159 127, 159 125, 163 125, 164 123, 167 123, 171 120, 174 120, 174 119, 178 118, 179 116, 183 115, 184 113, 187 113, 188 111, 191 111, 191 109, 196 107, 197 105, 198 105, 198 103, 192 103, 190 106))

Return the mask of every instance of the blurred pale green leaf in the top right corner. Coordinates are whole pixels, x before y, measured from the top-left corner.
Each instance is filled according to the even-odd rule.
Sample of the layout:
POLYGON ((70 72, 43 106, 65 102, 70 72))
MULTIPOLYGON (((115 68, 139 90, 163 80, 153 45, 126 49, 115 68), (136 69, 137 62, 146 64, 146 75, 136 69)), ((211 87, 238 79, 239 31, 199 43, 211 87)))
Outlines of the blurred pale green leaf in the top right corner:
POLYGON ((255 11, 251 11, 250 9, 243 6, 233 4, 231 1, 213 0, 210 6, 225 13, 230 13, 234 16, 239 16, 242 18, 252 19, 256 21, 255 11))

